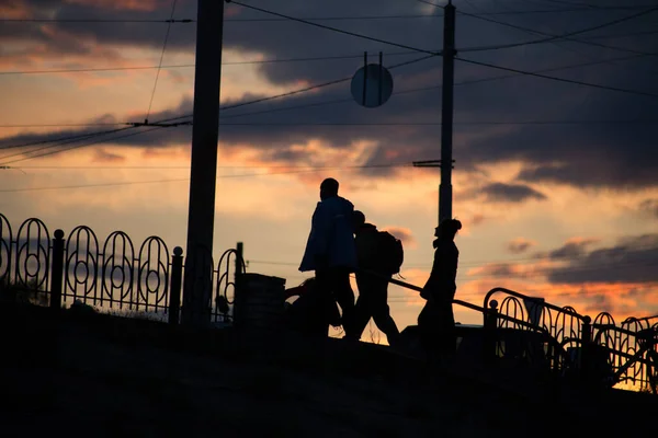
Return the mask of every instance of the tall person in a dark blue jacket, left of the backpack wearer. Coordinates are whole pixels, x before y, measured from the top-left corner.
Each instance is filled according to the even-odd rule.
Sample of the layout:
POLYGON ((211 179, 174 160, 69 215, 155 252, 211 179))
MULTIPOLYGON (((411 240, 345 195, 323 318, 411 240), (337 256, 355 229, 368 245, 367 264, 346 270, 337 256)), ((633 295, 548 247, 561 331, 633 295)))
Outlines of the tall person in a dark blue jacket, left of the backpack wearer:
POLYGON ((320 184, 320 201, 313 214, 310 234, 299 270, 315 270, 319 290, 331 296, 342 310, 345 337, 353 339, 354 292, 350 273, 356 268, 352 214, 354 206, 338 196, 338 181, 320 184))

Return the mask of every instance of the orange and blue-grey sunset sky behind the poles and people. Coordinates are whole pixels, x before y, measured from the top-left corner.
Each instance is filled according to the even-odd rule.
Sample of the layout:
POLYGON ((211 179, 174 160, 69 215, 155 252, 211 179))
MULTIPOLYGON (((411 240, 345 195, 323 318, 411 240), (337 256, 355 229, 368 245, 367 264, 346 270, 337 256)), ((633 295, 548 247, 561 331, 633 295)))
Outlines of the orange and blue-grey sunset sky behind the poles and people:
MULTIPOLYGON (((225 106, 350 78, 366 50, 393 66, 442 46, 443 11, 420 0, 245 3, 398 46, 229 4, 225 106)), ((592 316, 657 314, 655 1, 454 3, 456 298, 481 304, 500 286, 592 316), (556 35, 574 36, 538 42, 556 35)), ((184 246, 191 127, 47 142, 145 119, 171 10, 172 0, 0 1, 0 166, 10 168, 0 212, 12 226, 36 217, 50 230, 87 224, 102 239, 123 230, 184 246)), ((178 0, 173 18, 195 20, 196 1, 178 0)), ((192 114, 194 44, 194 22, 171 25, 151 122, 192 114)), ((319 183, 333 176, 370 222, 402 239, 402 276, 422 286, 440 173, 410 163, 440 158, 441 67, 433 57, 392 69, 394 94, 378 108, 359 106, 345 81, 222 111, 215 254, 245 242, 250 272, 296 286, 319 183)), ((413 324, 417 295, 389 296, 398 325, 413 324)), ((457 320, 480 322, 462 310, 457 320)))

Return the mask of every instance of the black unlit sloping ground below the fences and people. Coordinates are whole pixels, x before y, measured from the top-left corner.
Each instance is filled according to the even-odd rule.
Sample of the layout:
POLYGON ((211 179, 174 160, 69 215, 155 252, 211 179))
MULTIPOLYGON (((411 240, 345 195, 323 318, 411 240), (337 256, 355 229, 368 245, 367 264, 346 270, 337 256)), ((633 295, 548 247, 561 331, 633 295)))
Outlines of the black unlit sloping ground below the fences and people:
POLYGON ((658 397, 386 347, 0 308, 0 437, 534 437, 656 433, 658 397))

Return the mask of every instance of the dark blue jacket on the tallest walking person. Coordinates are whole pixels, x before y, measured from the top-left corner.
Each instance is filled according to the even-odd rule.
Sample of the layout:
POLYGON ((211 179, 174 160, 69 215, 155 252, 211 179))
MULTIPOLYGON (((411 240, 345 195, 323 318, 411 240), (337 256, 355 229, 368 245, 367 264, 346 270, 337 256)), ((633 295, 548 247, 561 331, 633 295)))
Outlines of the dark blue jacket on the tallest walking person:
POLYGON ((340 196, 318 203, 299 270, 316 270, 318 258, 326 260, 326 267, 356 268, 353 212, 354 205, 340 196))

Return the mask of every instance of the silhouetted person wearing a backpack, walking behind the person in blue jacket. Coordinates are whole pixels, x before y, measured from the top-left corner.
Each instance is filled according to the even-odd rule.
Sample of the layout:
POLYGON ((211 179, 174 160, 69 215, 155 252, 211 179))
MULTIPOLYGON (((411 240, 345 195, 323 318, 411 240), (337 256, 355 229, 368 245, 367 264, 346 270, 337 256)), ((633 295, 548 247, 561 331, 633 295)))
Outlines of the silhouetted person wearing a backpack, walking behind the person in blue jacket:
POLYGON ((402 244, 387 231, 379 231, 365 222, 361 211, 354 211, 354 233, 356 243, 356 287, 359 299, 354 310, 354 335, 361 338, 372 318, 394 346, 399 331, 390 316, 388 307, 388 280, 399 273, 402 264, 402 244))

